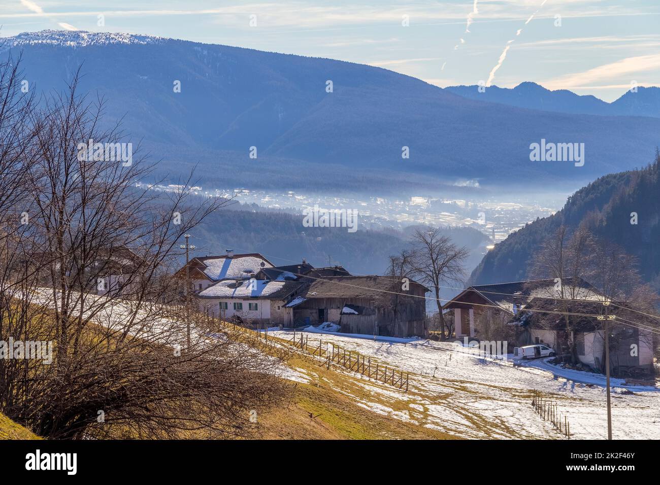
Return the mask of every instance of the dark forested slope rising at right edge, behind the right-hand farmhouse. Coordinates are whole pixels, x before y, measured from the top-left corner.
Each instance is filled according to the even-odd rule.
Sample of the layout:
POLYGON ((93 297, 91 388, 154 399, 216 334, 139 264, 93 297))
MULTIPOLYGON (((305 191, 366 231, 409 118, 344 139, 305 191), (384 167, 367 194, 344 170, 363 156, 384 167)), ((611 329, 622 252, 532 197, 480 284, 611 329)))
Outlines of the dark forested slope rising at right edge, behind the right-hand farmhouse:
POLYGON ((641 170, 601 177, 579 189, 566 205, 510 234, 482 259, 472 284, 519 281, 529 276, 529 262, 562 224, 580 224, 593 234, 621 245, 640 262, 640 273, 660 288, 660 156, 641 170))

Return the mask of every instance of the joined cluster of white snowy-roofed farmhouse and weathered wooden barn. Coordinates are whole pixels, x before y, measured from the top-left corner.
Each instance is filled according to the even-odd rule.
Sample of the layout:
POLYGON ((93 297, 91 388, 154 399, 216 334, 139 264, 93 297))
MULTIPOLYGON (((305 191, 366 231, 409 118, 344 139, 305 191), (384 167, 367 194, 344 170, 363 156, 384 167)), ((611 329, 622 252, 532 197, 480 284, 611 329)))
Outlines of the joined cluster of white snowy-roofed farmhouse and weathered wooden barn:
MULTIPOLYGON (((298 327, 331 322, 347 333, 426 337, 424 286, 409 295, 386 276, 352 276, 341 266, 314 268, 305 260, 276 267, 251 253, 190 261, 199 309, 246 325, 298 327)), ((185 276, 185 267, 178 271, 185 276)))

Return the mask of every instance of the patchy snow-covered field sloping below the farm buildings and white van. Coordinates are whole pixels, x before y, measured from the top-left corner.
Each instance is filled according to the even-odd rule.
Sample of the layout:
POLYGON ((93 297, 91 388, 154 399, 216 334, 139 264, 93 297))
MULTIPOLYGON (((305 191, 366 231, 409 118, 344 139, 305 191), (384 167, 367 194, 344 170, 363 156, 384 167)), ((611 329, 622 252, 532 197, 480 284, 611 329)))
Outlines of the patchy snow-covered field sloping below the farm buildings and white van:
MULTIPOLYGON (((284 339, 290 334, 269 332, 284 339)), ((572 439, 607 437, 605 389, 592 383, 604 380, 599 375, 561 370, 541 360, 525 362, 523 367, 513 366, 512 360, 484 360, 456 351, 448 342, 374 341, 373 337, 316 332, 306 335, 310 346, 317 346, 320 339, 323 346, 333 343, 411 372, 408 393, 349 373, 366 392, 337 390, 374 412, 461 437, 561 439, 552 425, 535 414, 531 396, 536 389, 544 399, 558 404, 562 420, 567 416, 572 439)), ((612 379, 612 385, 620 385, 620 381, 612 379)), ((644 387, 632 390, 630 395, 621 387, 612 389, 613 437, 660 439, 660 391, 644 387)))

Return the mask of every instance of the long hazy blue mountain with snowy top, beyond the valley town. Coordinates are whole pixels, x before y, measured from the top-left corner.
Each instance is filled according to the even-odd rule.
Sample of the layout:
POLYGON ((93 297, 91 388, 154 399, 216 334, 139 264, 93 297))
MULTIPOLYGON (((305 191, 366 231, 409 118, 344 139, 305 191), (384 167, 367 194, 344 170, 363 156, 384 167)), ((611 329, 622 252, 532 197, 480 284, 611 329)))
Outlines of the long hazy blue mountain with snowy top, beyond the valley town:
POLYGON ((658 118, 473 100, 335 59, 52 30, 6 38, 0 50, 22 55, 24 80, 39 95, 62 90, 81 69, 81 92, 90 101, 104 98, 104 119, 122 119, 130 139, 158 160, 160 175, 185 174, 197 164, 209 175, 201 180, 205 188, 223 177, 290 187, 322 173, 333 190, 345 185, 347 171, 372 187, 411 177, 448 185, 466 178, 482 185, 579 184, 630 170, 631 160, 650 158, 660 144, 658 118), (541 139, 584 143, 585 164, 531 162, 530 144, 541 139), (250 158, 251 147, 257 158, 250 158), (381 183, 378 172, 391 179, 381 183))

